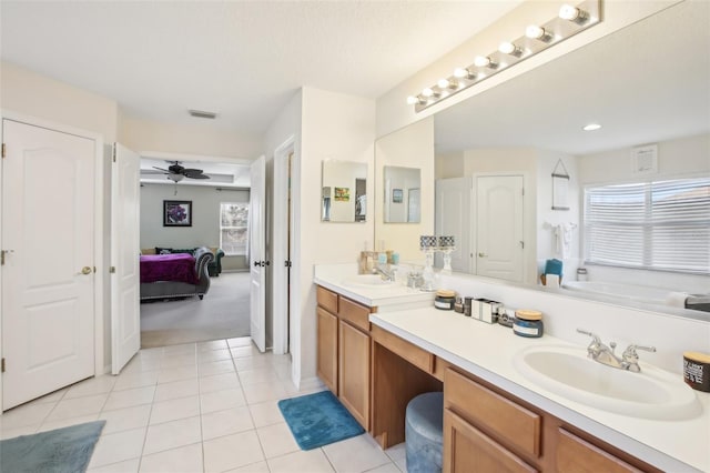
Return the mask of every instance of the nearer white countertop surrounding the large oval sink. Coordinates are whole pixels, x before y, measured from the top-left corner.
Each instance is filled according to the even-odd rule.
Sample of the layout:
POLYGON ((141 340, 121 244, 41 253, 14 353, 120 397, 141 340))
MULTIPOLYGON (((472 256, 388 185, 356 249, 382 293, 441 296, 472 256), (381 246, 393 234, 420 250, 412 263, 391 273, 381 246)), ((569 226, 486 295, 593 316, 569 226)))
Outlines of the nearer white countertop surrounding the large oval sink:
POLYGON ((503 325, 432 306, 371 314, 371 322, 661 470, 710 472, 708 393, 697 392, 703 412, 688 421, 615 414, 548 392, 515 369, 518 351, 532 344, 570 345, 560 339, 526 339, 503 325))

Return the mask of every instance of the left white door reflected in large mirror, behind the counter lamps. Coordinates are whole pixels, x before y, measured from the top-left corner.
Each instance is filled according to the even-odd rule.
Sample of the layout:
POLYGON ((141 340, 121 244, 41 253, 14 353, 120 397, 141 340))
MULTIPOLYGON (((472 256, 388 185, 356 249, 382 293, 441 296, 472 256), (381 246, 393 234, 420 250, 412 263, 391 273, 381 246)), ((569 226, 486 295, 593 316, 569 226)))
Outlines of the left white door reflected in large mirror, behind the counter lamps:
MULTIPOLYGON (((452 270, 470 273, 470 191, 471 178, 453 178, 436 180, 436 215, 437 235, 454 235, 456 251, 452 253, 452 270)), ((440 253, 436 254, 437 265, 442 265, 440 253)))

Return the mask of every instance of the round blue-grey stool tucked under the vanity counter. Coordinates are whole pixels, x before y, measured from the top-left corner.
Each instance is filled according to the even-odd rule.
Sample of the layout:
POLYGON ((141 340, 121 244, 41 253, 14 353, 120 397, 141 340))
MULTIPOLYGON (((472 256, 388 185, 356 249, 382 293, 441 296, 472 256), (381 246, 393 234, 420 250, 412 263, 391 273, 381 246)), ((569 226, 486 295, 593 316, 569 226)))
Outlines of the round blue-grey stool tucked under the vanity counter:
POLYGON ((424 393, 409 401, 404 435, 408 473, 442 471, 444 393, 424 393))

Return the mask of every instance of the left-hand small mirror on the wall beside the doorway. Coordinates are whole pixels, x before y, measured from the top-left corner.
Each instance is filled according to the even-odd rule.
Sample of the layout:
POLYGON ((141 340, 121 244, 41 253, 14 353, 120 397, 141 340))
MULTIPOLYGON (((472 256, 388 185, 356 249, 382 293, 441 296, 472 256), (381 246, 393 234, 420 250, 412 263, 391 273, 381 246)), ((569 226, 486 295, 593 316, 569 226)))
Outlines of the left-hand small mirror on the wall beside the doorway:
POLYGON ((367 163, 323 161, 321 220, 364 222, 367 215, 367 163))

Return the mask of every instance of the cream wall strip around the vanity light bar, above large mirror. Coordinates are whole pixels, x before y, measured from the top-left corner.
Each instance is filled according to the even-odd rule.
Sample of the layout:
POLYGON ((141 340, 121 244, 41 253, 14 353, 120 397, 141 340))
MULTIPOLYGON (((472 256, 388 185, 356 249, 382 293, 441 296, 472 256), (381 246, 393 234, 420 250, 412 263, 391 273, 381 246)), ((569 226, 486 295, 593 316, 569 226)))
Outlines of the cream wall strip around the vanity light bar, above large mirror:
POLYGON ((500 71, 475 87, 456 93, 419 113, 414 111, 413 105, 406 103, 408 95, 435 84, 442 77, 449 77, 454 69, 470 64, 471 58, 475 56, 487 54, 497 50, 500 41, 523 36, 528 24, 542 24, 549 19, 555 18, 562 3, 557 1, 527 0, 503 19, 495 21, 489 28, 484 29, 453 51, 442 51, 443 56, 440 59, 379 97, 377 99, 377 135, 383 137, 394 130, 429 117, 439 110, 447 109, 463 100, 477 95, 499 83, 545 64, 679 1, 680 0, 606 0, 602 4, 604 21, 601 23, 526 59, 510 69, 500 71))

